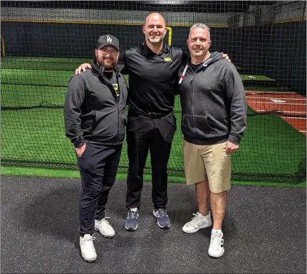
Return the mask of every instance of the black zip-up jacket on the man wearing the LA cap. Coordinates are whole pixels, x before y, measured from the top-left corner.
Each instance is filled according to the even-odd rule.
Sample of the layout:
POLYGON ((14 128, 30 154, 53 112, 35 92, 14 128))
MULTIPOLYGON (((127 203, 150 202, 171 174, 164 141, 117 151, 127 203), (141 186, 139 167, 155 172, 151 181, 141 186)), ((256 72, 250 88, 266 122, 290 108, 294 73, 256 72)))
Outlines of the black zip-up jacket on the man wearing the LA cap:
POLYGON ((64 120, 66 136, 75 147, 84 142, 96 147, 123 143, 128 90, 120 73, 122 68, 120 64, 115 67, 119 96, 103 75, 105 68, 101 65, 92 64, 92 69, 69 81, 64 120))

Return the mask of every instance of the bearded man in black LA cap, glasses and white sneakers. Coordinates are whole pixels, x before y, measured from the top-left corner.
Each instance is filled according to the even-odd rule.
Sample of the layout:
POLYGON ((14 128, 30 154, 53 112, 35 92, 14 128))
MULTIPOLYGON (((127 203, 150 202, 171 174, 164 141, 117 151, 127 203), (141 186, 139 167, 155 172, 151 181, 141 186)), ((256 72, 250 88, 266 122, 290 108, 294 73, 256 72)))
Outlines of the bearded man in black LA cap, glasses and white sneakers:
POLYGON ((92 69, 74 75, 64 105, 66 136, 76 154, 83 192, 80 196, 80 249, 84 260, 97 258, 93 232, 112 238, 105 204, 115 182, 127 115, 127 83, 118 64, 118 38, 100 36, 92 69))

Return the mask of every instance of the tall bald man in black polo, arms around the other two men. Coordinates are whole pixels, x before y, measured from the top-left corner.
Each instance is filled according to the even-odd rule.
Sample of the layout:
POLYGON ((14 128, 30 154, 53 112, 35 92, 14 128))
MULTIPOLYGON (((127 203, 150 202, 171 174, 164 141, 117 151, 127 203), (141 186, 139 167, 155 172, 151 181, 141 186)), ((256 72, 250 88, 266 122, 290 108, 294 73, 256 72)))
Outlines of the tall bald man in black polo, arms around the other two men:
MULTIPOLYGON (((165 19, 157 13, 147 16, 145 43, 120 53, 122 73, 129 75, 127 144, 129 169, 125 228, 135 231, 139 224, 139 209, 143 186, 143 172, 147 154, 152 164, 153 215, 160 228, 170 228, 167 216, 167 162, 176 131, 174 84, 177 71, 186 63, 187 55, 181 48, 164 43, 167 33, 165 19)), ((226 56, 227 57, 227 56, 226 56)), ((227 57, 228 58, 228 57, 227 57)), ((90 68, 83 64, 76 70, 90 68)))

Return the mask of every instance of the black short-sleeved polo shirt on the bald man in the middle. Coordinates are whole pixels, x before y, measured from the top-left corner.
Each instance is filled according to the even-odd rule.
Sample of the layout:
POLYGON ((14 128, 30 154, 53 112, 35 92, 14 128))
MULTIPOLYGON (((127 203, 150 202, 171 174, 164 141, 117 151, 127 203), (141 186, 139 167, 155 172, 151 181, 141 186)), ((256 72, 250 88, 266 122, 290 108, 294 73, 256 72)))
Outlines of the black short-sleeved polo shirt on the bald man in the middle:
POLYGON ((166 113, 175 103, 174 83, 186 55, 181 48, 163 44, 160 53, 153 53, 144 43, 120 53, 121 71, 129 75, 128 105, 144 112, 166 113))

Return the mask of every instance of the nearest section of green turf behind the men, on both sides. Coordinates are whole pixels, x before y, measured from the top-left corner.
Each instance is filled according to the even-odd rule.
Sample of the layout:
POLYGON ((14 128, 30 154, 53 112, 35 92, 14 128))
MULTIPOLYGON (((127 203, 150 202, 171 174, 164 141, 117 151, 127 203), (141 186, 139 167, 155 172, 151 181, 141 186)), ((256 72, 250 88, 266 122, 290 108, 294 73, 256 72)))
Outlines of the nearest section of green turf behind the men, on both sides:
MULTIPOLYGON (((176 115, 179 127, 180 113, 176 115)), ((1 116, 1 157, 4 163, 14 159, 41 163, 42 166, 43 162, 71 163, 71 167, 76 168, 73 147, 64 132, 62 109, 9 110, 2 111, 1 116)), ((183 171, 171 171, 183 169, 181 145, 182 133, 178 129, 172 142, 170 175, 183 176, 183 171)), ((305 156, 305 137, 280 117, 251 116, 240 150, 232 157, 233 172, 258 174, 258 178, 263 174, 276 174, 277 181, 278 175, 296 174, 305 156)), ((128 166, 125 142, 120 166, 128 166)), ((150 167, 149 157, 147 167, 150 167)), ((150 173, 150 169, 147 172, 150 173)))

